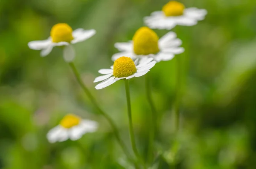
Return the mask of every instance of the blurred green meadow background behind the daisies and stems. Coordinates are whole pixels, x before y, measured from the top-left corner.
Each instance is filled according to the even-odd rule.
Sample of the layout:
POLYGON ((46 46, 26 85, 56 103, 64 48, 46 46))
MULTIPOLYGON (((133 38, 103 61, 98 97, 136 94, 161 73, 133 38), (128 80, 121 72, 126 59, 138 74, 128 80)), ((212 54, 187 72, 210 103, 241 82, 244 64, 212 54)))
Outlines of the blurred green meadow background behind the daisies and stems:
MULTIPOLYGON (((107 121, 76 82, 61 49, 47 57, 28 48, 56 23, 96 29, 75 45, 84 82, 113 118, 131 150, 122 81, 96 91, 97 71, 113 64, 116 42, 131 40, 143 17, 168 0, 0 0, 0 169, 129 169, 107 121), (46 134, 67 113, 99 122, 96 133, 50 144, 46 134)), ((177 169, 255 169, 256 1, 182 0, 207 9, 206 19, 173 31, 183 40, 177 169)), ((159 36, 167 33, 156 31, 159 36)), ((156 168, 173 167, 176 59, 150 71, 161 118, 156 168), (160 164, 158 166, 158 164, 160 164)), ((146 157, 151 110, 145 77, 131 81, 134 128, 146 157)))

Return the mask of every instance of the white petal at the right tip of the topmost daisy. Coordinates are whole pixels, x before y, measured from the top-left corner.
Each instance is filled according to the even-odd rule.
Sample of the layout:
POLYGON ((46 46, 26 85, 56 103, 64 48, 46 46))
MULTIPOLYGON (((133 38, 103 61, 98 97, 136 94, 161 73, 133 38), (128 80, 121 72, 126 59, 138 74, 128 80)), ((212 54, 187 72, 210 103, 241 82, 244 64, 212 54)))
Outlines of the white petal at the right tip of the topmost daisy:
POLYGON ((184 15, 195 20, 204 20, 207 10, 197 8, 187 8, 184 10, 184 15))

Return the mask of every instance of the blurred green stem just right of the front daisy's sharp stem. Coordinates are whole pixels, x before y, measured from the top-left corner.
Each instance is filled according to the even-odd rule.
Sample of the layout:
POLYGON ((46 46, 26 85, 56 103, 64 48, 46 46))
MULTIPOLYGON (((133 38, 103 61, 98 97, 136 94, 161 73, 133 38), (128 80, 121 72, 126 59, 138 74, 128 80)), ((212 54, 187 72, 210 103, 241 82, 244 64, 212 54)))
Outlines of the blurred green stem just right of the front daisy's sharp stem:
POLYGON ((148 161, 151 162, 152 158, 154 158, 154 137, 157 133, 158 127, 157 127, 157 110, 154 106, 153 99, 151 96, 150 79, 149 79, 148 73, 145 75, 145 89, 146 89, 147 100, 150 105, 151 113, 152 113, 151 131, 149 133, 149 146, 148 146, 148 161))

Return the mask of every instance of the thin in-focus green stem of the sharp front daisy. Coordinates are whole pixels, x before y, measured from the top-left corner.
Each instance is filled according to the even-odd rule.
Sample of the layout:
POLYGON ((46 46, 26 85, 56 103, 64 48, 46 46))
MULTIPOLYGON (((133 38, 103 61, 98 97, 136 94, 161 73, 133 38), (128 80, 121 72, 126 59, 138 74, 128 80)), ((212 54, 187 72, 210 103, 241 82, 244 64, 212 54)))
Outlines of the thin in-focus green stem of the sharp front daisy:
POLYGON ((134 138, 134 129, 133 129, 132 117, 131 117, 131 97, 130 97, 129 80, 124 80, 124 81, 125 81, 125 93, 126 93, 126 100, 127 100, 131 146, 132 146, 132 149, 133 149, 134 154, 136 155, 137 159, 140 160, 143 163, 143 165, 145 165, 142 158, 140 157, 138 150, 137 150, 135 138, 134 138))

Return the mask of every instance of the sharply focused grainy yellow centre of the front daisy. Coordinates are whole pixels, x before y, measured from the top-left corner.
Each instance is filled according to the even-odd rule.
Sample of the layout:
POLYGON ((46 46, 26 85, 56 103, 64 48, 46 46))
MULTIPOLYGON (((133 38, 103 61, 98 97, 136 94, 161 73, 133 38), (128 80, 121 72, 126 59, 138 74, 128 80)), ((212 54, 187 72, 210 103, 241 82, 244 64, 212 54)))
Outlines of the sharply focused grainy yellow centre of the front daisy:
POLYGON ((128 77, 136 73, 134 61, 130 57, 119 57, 113 65, 113 75, 115 77, 128 77))

